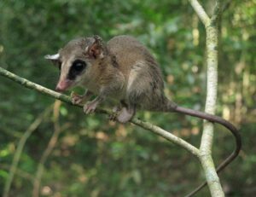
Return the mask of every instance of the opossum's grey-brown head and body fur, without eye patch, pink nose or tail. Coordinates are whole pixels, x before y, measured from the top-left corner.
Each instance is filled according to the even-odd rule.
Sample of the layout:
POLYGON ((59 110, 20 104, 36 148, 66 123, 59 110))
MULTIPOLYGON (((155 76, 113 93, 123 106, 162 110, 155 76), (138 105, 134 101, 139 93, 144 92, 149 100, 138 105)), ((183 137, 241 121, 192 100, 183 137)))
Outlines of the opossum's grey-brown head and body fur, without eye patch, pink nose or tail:
POLYGON ((87 63, 84 72, 74 79, 73 86, 81 85, 98 97, 84 106, 93 112, 107 97, 126 103, 117 119, 126 122, 137 109, 170 111, 176 107, 164 96, 160 67, 142 43, 130 36, 118 36, 103 43, 98 36, 70 41, 59 51, 60 81, 76 59, 87 63), (124 109, 125 107, 125 109, 124 109), (130 114, 129 114, 130 113, 130 114))

